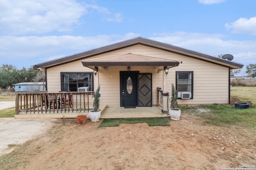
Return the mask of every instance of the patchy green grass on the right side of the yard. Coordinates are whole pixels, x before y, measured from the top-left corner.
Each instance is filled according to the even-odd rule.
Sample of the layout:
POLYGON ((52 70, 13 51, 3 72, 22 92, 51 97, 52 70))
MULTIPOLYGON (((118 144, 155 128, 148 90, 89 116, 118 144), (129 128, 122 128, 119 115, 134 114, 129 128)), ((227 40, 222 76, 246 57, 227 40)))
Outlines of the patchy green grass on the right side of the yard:
MULTIPOLYGON (((256 87, 232 87, 231 97, 256 104, 256 87)), ((204 119, 205 123, 216 126, 238 125, 240 127, 256 129, 256 109, 239 109, 234 106, 213 104, 210 106, 182 107, 182 111, 204 119)))

